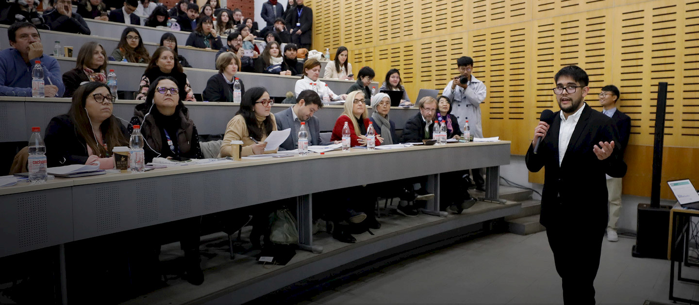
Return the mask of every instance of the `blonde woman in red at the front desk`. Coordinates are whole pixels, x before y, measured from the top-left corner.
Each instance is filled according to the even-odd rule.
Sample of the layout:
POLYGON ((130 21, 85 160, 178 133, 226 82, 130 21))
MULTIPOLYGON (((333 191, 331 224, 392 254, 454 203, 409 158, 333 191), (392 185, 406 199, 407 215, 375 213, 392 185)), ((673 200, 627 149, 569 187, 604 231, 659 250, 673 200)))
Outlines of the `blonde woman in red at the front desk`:
MULTIPOLYGON (((349 138, 352 140, 350 146, 366 146, 366 129, 371 122, 366 111, 363 92, 352 91, 347 95, 345 111, 335 122, 333 134, 330 136, 331 141, 342 141, 345 123, 349 125, 349 138)), ((380 146, 383 141, 384 138, 377 134, 376 146, 380 146)))

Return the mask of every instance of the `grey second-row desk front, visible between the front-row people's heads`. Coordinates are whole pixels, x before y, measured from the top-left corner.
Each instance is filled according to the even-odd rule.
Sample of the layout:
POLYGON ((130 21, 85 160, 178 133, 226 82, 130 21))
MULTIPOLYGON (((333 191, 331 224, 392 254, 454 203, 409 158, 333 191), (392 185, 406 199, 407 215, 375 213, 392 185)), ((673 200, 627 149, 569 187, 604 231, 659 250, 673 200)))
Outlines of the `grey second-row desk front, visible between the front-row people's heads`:
MULTIPOLYGON (((136 104, 141 102, 143 101, 117 100, 113 113, 128 121, 134 116, 136 104)), ((229 102, 185 102, 185 105, 199 134, 224 133, 226 124, 240 108, 240 104, 229 102)), ((274 104, 272 113, 283 111, 290 106, 291 104, 274 104)), ((68 97, 0 97, 0 142, 27 141, 31 136, 31 127, 41 127, 41 131, 44 132, 51 118, 68 113, 70 108, 71 99, 68 97)), ((317 111, 315 117, 320 121, 320 130, 332 131, 343 110, 342 105, 329 105, 317 111)), ((389 118, 396 123, 396 128, 401 130, 408 118, 415 116, 417 111, 415 107, 391 107, 389 118)))

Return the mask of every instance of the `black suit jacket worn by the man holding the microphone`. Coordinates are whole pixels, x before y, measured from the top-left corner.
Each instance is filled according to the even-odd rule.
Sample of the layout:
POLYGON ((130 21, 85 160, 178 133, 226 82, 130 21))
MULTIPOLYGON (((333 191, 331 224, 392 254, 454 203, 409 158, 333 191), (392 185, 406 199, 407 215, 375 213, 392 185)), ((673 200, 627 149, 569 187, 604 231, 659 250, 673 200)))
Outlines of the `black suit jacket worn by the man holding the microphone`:
POLYGON ((568 148, 559 166, 560 112, 539 144, 537 154, 529 146, 525 162, 527 169, 538 172, 546 166, 541 198, 540 222, 547 228, 593 228, 607 226, 607 182, 605 173, 623 177, 626 163, 621 155, 619 132, 612 119, 585 105, 568 148), (614 141, 614 151, 599 160, 593 147, 600 141, 614 141))

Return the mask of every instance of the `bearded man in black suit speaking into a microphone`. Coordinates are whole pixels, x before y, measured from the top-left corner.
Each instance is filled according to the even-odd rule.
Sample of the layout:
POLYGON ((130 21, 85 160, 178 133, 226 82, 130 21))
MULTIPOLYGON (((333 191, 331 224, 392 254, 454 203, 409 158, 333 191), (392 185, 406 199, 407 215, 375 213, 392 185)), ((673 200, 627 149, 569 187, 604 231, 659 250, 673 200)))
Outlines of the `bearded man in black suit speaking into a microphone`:
POLYGON ((582 102, 590 90, 587 73, 570 65, 554 79, 561 111, 550 125, 539 122, 525 162, 532 172, 546 167, 540 222, 563 280, 563 302, 595 304, 593 283, 607 228, 605 174, 622 177, 626 164, 612 119, 582 102))

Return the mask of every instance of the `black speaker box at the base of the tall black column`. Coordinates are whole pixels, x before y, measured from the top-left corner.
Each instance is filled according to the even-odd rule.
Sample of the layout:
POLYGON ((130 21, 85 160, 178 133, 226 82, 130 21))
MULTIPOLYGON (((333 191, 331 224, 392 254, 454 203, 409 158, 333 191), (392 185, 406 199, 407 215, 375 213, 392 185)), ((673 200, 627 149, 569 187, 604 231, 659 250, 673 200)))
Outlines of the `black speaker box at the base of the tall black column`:
POLYGON ((668 259, 670 209, 670 205, 661 205, 660 208, 652 208, 645 203, 638 205, 633 257, 668 259))

